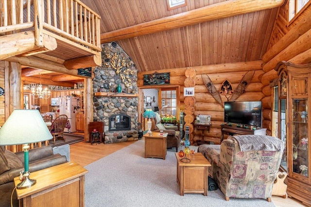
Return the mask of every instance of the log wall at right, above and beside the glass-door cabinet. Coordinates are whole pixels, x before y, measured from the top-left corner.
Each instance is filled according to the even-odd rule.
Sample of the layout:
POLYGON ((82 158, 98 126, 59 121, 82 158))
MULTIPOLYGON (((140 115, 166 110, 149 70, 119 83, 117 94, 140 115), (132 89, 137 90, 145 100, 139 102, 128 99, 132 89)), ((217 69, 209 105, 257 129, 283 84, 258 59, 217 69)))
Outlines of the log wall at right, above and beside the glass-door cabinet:
POLYGON ((307 7, 300 16, 288 25, 287 5, 279 10, 278 18, 274 31, 270 39, 270 46, 267 52, 262 56, 264 74, 259 77, 263 87, 262 104, 265 108, 262 127, 267 128, 268 135, 272 135, 272 110, 273 93, 270 84, 277 79, 276 64, 280 61, 290 61, 295 64, 311 63, 311 5, 307 7))

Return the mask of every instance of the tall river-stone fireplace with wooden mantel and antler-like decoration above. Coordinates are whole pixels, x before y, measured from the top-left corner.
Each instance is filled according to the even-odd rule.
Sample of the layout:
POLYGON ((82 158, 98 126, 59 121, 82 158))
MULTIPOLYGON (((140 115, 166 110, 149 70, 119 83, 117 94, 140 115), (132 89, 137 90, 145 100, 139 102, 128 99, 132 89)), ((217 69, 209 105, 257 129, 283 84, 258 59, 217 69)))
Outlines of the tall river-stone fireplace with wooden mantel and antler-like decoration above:
POLYGON ((102 44, 102 49, 103 64, 94 69, 93 92, 101 90, 104 95, 93 96, 93 121, 104 122, 104 143, 138 140, 137 68, 117 43, 102 44))

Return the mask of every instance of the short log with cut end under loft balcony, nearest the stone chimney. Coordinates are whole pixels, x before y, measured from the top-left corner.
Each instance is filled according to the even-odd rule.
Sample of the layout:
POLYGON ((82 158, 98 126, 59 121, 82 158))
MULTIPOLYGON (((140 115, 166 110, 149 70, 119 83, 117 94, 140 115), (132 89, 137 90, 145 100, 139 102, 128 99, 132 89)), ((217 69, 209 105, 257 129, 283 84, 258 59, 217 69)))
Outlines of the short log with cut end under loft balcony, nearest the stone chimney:
POLYGON ((102 57, 99 55, 90 55, 82 58, 75 58, 71 60, 66 60, 64 62, 64 66, 69 69, 79 69, 79 68, 86 68, 92 67, 102 64, 102 57))

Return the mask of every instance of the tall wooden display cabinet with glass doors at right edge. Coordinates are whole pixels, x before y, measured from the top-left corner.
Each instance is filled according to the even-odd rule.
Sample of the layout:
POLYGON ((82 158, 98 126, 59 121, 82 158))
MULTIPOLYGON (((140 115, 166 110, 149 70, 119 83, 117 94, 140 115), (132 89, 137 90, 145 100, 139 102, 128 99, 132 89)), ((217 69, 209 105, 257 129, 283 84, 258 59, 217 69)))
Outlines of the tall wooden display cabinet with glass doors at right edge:
POLYGON ((280 62, 278 74, 278 134, 286 144, 281 171, 288 177, 287 194, 311 205, 311 64, 280 62))

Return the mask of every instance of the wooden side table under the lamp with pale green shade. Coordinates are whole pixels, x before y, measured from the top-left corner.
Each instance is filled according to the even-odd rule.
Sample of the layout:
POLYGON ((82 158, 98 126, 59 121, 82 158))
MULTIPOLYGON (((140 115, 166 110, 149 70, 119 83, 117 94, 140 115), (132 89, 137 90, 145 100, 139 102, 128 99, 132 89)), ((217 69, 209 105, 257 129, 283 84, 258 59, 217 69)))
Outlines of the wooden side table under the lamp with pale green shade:
MULTIPOLYGON (((19 207, 84 207, 84 176, 87 170, 67 162, 31 173, 36 184, 16 190, 19 207)), ((14 178, 15 186, 20 183, 14 178)))

